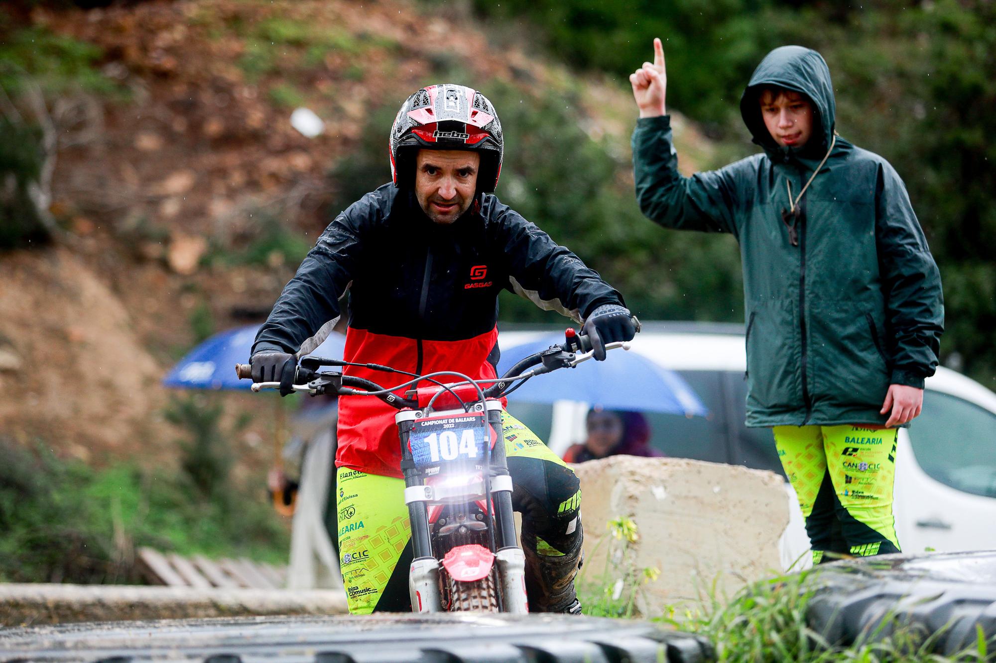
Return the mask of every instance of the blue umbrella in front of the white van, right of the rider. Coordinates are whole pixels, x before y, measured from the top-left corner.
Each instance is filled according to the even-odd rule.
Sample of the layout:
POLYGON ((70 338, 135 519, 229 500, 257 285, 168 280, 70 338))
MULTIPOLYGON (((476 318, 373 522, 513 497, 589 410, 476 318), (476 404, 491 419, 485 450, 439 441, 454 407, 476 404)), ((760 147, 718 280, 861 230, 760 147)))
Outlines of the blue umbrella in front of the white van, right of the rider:
MULTIPOLYGON (((498 374, 517 361, 564 341, 563 335, 503 348, 498 374)), ((553 403, 580 400, 613 410, 705 415, 698 394, 673 370, 631 350, 610 350, 605 361, 589 359, 575 368, 561 368, 529 379, 509 394, 510 401, 553 403)))

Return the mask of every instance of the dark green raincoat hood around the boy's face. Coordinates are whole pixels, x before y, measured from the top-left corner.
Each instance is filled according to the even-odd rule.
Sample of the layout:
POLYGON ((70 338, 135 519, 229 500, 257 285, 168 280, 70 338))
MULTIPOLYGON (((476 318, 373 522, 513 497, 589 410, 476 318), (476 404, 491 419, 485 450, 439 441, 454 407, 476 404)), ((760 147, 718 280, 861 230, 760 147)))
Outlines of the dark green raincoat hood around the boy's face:
POLYGON ((750 83, 740 98, 740 114, 754 136, 773 158, 784 158, 789 153, 799 156, 822 158, 830 146, 837 121, 837 104, 830 68, 819 53, 802 46, 782 46, 761 61, 750 77, 750 83), (761 116, 758 96, 762 88, 778 86, 806 95, 816 112, 813 134, 802 147, 783 147, 775 142, 761 116))

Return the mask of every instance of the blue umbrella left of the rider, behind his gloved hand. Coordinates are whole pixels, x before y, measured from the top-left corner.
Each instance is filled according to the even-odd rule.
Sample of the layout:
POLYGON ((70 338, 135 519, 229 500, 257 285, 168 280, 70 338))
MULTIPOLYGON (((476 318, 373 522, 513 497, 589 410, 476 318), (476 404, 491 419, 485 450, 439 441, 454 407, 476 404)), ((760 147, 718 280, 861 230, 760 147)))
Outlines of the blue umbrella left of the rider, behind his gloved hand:
MULTIPOLYGON (((236 363, 247 363, 259 325, 248 325, 214 334, 187 352, 162 379, 168 387, 186 389, 246 389, 252 380, 235 375, 236 363)), ((343 358, 346 336, 333 331, 311 353, 331 359, 343 358)))

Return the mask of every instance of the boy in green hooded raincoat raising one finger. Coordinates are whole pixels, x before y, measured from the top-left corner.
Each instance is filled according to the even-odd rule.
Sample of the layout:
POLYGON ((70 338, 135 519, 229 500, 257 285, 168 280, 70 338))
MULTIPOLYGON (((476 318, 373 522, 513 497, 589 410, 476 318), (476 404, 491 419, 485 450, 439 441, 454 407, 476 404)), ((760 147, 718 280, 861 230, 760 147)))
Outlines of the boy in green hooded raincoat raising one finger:
POLYGON ((640 209, 740 244, 747 425, 774 429, 814 562, 898 552, 896 426, 920 413, 944 319, 905 186, 885 159, 837 134, 827 63, 799 46, 772 51, 741 98, 763 152, 683 177, 659 39, 653 47, 654 62, 629 77, 640 209))

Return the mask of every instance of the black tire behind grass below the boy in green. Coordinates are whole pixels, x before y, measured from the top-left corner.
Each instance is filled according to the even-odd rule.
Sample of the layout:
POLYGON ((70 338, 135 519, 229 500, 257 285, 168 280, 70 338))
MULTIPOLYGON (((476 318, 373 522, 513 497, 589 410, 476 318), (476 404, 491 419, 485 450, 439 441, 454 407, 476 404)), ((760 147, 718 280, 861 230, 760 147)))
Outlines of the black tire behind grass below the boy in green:
POLYGON ((832 644, 875 640, 911 627, 935 653, 996 638, 996 552, 886 554, 821 565, 807 621, 832 644))

